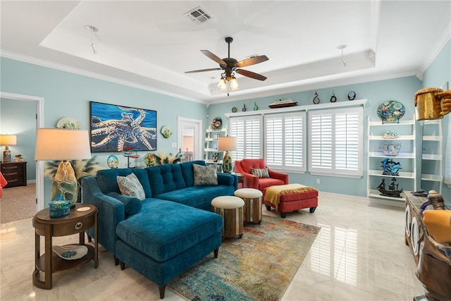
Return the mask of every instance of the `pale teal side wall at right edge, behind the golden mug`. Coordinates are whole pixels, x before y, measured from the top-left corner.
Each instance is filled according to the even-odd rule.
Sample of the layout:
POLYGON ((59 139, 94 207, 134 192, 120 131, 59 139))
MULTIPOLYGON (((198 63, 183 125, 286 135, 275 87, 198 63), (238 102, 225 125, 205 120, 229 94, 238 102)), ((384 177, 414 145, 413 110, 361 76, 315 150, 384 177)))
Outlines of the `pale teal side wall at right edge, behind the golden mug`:
MULTIPOLYGON (((451 90, 451 40, 445 44, 430 66, 424 72, 423 87, 442 87, 448 82, 448 89, 451 90)), ((450 126, 451 113, 442 119, 443 128, 443 154, 447 142, 447 135, 450 126)), ((450 142, 451 143, 451 142, 450 142)), ((445 161, 443 160, 443 172, 445 172, 445 161)), ((442 191, 445 202, 451 207, 451 187, 443 184, 442 191)))

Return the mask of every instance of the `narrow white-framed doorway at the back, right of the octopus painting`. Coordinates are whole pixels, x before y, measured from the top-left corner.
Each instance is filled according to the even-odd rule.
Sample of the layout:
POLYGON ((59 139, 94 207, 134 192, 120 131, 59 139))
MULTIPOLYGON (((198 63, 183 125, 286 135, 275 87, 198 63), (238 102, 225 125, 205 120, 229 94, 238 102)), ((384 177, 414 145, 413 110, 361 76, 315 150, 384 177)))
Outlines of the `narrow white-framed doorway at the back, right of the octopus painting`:
POLYGON ((202 159, 202 121, 190 118, 177 118, 178 149, 185 157, 184 161, 202 159))

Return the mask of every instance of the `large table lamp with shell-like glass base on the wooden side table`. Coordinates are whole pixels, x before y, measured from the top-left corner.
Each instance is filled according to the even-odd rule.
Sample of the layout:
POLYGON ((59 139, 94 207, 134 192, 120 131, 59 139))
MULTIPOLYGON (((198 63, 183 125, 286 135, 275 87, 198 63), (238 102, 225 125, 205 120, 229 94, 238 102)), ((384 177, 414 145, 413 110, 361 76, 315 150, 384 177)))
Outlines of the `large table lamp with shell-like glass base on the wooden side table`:
POLYGON ((87 130, 66 128, 38 128, 36 135, 35 161, 60 161, 51 184, 51 201, 69 201, 75 207, 78 199, 78 182, 75 171, 67 160, 91 158, 87 130))

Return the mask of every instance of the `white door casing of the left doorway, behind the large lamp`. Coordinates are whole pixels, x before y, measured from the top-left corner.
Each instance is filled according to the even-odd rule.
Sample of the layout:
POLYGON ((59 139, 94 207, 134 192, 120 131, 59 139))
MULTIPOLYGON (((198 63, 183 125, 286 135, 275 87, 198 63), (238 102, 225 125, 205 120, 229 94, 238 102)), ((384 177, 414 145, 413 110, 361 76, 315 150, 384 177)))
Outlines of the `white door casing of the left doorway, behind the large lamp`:
MULTIPOLYGON (((35 102, 36 104, 36 128, 44 127, 44 98, 23 94, 0 92, 0 98, 13 99, 22 102, 35 102)), ((32 162, 30 162, 31 164, 32 162)), ((36 211, 44 209, 44 162, 36 164, 36 211)))

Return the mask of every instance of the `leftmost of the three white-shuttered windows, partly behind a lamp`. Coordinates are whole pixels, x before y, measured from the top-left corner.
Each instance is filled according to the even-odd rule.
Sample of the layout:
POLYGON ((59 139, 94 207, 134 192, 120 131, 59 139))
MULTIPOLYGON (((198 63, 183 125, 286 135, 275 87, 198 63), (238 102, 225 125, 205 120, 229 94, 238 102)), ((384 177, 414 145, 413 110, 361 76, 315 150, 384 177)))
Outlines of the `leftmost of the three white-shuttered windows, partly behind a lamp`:
POLYGON ((261 121, 261 115, 230 118, 230 136, 237 137, 237 152, 231 154, 234 160, 263 158, 261 121))

